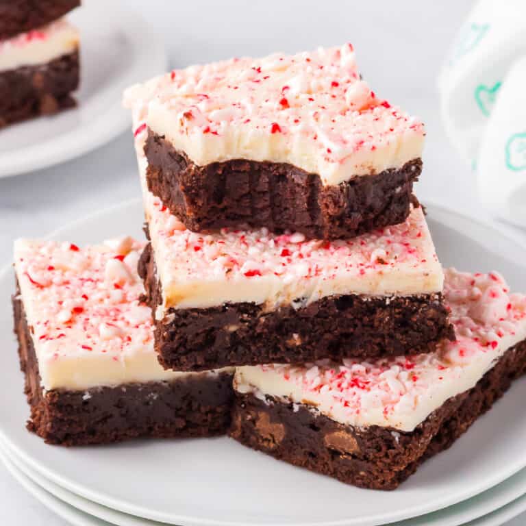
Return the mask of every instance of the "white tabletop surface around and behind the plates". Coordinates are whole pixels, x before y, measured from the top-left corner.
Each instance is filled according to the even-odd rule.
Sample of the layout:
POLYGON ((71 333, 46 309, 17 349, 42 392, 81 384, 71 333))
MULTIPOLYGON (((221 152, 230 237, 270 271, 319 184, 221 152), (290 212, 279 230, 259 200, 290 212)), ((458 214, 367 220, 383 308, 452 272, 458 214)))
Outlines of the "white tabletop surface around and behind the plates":
MULTIPOLYGON (((257 56, 275 49, 292 52, 351 40, 368 82, 426 123, 425 166, 417 186, 421 200, 489 219, 475 195, 474 174, 465 169, 444 134, 436 92, 445 51, 471 2, 444 0, 426 3, 425 8, 416 0, 355 6, 339 0, 267 0, 251 3, 249 8, 243 0, 221 4, 210 0, 177 4, 127 0, 127 5, 140 11, 164 38, 171 66, 241 52, 257 56)), ((12 240, 17 236, 45 235, 93 210, 139 195, 129 133, 73 162, 3 179, 0 258, 5 263, 10 260, 12 240)), ((485 264, 484 255, 479 255, 479 260, 485 264)), ((13 484, 2 468, 0 509, 6 524, 66 525, 64 519, 13 484)), ((526 515, 507 526, 525 522, 526 515)))

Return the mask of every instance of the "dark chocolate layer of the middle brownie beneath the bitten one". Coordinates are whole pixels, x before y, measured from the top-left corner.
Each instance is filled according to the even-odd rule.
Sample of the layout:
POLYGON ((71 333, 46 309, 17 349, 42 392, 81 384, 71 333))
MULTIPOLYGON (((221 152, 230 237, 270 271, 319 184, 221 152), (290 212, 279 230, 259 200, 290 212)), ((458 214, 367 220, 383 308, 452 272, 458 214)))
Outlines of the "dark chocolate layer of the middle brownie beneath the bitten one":
MULTIPOLYGON (((162 286, 151 245, 138 266, 155 312, 162 286)), ((169 309, 155 321, 155 349, 165 368, 201 371, 226 365, 303 363, 423 353, 455 339, 440 294, 325 297, 306 307, 265 312, 255 303, 169 309)))

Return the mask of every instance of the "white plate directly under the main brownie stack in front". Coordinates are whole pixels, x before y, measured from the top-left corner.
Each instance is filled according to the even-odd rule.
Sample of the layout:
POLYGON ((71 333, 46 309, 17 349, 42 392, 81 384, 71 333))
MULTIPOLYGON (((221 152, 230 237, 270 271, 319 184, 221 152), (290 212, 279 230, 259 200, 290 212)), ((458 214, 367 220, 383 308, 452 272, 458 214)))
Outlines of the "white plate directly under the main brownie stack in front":
MULTIPOLYGON (((444 264, 498 269, 526 290, 525 248, 499 231, 429 207, 444 264)), ((57 234, 77 243, 140 234, 140 201, 90 216, 57 234)), ((491 488, 526 466, 526 381, 446 453, 426 462, 395 492, 359 490, 241 447, 228 438, 144 440, 112 447, 49 447, 24 427, 28 410, 10 336, 12 276, 0 278, 0 435, 32 469, 86 499, 115 510, 183 525, 360 525, 434 512, 491 488), (9 335, 9 336, 8 336, 9 335), (3 340, 1 340, 3 338, 3 340)))

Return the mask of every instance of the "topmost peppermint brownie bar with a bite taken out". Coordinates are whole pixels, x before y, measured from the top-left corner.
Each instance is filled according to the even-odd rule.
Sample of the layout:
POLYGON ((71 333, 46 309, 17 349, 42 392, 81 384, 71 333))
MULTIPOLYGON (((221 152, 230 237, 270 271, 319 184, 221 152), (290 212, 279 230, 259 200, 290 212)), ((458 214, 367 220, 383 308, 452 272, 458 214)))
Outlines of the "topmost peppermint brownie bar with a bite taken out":
POLYGON ((125 105, 149 190, 192 231, 351 238, 410 212, 423 124, 375 95, 351 45, 174 70, 125 105))

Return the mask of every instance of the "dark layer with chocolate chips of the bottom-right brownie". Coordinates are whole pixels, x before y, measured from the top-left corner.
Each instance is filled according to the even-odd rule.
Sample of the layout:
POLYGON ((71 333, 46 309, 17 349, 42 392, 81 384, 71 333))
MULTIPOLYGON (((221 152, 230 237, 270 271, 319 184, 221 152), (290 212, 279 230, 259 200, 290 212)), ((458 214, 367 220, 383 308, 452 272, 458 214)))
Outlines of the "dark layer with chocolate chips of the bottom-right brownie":
POLYGON ((305 405, 237 395, 230 435, 280 460, 347 484, 392 490, 447 449, 526 370, 526 342, 506 351, 474 388, 449 399, 412 432, 342 425, 305 405))

